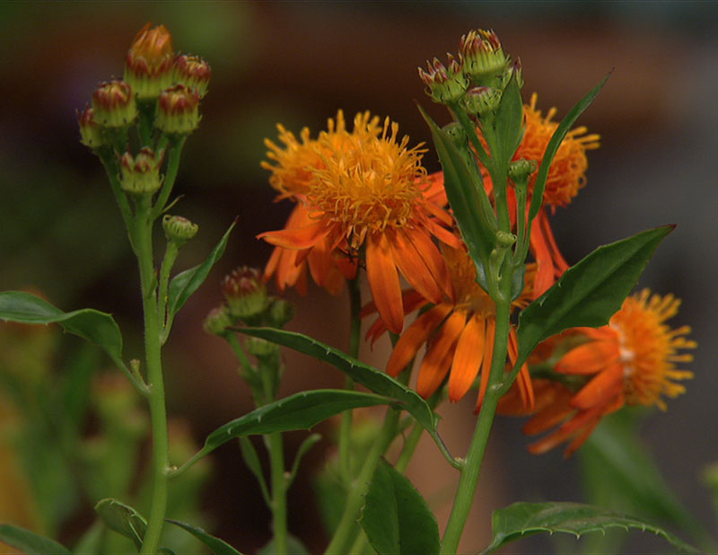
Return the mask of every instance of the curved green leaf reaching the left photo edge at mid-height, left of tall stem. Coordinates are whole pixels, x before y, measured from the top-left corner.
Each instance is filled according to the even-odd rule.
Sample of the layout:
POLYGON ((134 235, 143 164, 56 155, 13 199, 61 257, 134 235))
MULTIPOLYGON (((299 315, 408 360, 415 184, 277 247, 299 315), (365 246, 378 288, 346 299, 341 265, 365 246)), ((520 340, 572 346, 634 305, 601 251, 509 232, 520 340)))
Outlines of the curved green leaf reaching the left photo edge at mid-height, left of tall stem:
POLYGON ((25 291, 0 292, 0 319, 28 324, 58 323, 72 333, 102 348, 117 366, 127 370, 122 361, 122 334, 108 313, 84 308, 64 313, 56 306, 25 291))

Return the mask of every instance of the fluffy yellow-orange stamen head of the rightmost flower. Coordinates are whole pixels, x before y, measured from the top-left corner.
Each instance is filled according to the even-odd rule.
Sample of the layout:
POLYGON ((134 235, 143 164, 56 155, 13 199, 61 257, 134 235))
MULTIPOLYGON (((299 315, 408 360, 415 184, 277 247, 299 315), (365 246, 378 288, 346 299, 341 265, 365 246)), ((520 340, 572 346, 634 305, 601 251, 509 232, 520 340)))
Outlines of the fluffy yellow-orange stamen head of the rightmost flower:
POLYGON ((686 339, 688 326, 671 330, 664 322, 678 313, 680 301, 673 295, 651 295, 644 289, 640 295, 626 299, 623 308, 610 321, 620 341, 624 372, 626 404, 652 405, 666 410, 661 395, 676 397, 686 388, 672 380, 693 377, 692 372, 677 370, 674 363, 693 360, 679 348, 696 348, 696 341, 686 339))

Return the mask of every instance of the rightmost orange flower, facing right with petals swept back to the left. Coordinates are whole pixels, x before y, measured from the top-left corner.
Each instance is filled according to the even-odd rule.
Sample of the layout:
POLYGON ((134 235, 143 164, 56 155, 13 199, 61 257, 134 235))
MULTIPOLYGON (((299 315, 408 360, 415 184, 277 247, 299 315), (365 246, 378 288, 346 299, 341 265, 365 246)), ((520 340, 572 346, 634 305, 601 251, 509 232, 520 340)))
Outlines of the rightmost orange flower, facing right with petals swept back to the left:
MULTIPOLYGON (((651 295, 644 289, 626 298, 621 310, 608 326, 598 329, 576 328, 572 333, 588 339, 570 349, 557 362, 556 374, 567 382, 587 380, 581 389, 563 383, 541 380, 535 383, 536 415, 524 427, 526 434, 556 430, 531 444, 531 453, 541 454, 565 441, 569 456, 598 426, 600 418, 624 405, 657 405, 666 410, 662 395, 676 397, 686 391, 676 383, 693 377, 678 370, 675 363, 689 362, 693 356, 679 349, 696 348, 686 339, 690 328, 671 330, 664 322, 678 313, 680 301, 673 295, 651 295)), ((511 400, 504 412, 511 412, 511 400)), ((517 403, 514 403, 517 405, 517 403)))

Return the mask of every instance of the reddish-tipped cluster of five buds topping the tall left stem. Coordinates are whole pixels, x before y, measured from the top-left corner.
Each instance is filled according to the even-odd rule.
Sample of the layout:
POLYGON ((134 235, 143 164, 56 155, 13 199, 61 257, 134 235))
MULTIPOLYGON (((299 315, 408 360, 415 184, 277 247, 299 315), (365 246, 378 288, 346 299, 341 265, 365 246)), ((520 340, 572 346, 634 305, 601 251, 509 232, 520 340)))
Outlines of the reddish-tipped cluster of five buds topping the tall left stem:
POLYGON ((199 123, 199 99, 211 75, 201 57, 175 55, 164 25, 147 23, 127 51, 123 80, 100 84, 92 93, 92 108, 78 113, 83 145, 97 150, 112 144, 107 131, 128 128, 138 116, 166 135, 188 135, 199 123))

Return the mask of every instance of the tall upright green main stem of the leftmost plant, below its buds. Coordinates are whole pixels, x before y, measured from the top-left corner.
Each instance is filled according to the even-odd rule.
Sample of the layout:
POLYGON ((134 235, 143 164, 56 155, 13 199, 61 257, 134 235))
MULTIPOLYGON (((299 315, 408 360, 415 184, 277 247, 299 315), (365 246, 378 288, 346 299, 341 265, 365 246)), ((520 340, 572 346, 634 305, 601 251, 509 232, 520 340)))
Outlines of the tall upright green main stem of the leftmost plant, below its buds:
POLYGON ((137 203, 135 226, 136 252, 140 267, 142 302, 144 308, 144 350, 149 387, 150 418, 153 432, 153 489, 147 532, 144 534, 142 553, 156 553, 159 547, 164 517, 167 512, 167 480, 169 439, 167 410, 162 378, 162 347, 160 345, 160 319, 157 306, 157 280, 153 263, 152 223, 149 198, 137 203))

